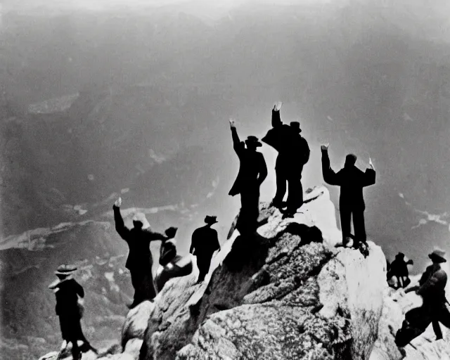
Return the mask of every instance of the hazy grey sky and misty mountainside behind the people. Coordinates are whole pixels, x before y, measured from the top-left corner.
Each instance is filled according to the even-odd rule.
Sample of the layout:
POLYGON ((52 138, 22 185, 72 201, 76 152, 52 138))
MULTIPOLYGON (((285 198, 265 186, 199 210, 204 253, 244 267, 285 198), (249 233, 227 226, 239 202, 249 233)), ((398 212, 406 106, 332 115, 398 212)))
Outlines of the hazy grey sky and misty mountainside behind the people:
MULTIPOLYGON (((25 304, 48 298, 57 328, 46 288, 56 262, 124 267, 126 246, 99 225, 119 194, 155 229, 179 226, 182 253, 205 214, 224 240, 239 207, 228 119, 261 137, 278 100, 309 141, 305 188, 323 182, 323 142, 335 169, 348 152, 363 169, 370 156, 368 237, 414 259, 414 272, 435 245, 450 251, 448 1, 4 0, 0 14, 2 338, 43 336, 39 322, 6 326, 37 316, 12 307, 20 292, 25 304)), ((271 200, 276 153, 262 152, 271 200)), ((97 285, 108 316, 123 316, 97 285)))

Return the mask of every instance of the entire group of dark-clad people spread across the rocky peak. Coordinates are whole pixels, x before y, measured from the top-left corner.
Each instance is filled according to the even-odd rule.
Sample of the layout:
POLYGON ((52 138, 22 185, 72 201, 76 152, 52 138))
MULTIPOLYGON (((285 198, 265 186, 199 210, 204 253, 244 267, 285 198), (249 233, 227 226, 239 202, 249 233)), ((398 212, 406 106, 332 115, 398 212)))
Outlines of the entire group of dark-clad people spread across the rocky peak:
MULTIPOLYGON (((302 170, 309 161, 309 145, 301 136, 302 129, 299 122, 283 124, 280 110, 282 103, 274 105, 271 110, 271 129, 262 138, 262 142, 271 146, 278 152, 276 158, 276 193, 271 205, 278 208, 284 218, 292 218, 297 210, 304 204, 302 189, 302 170), (284 201, 286 190, 287 199, 284 201)), ((236 122, 230 120, 233 149, 240 162, 238 176, 234 181, 229 195, 240 195, 240 212, 236 223, 236 229, 242 236, 252 236, 258 228, 259 217, 259 188, 266 179, 267 166, 264 155, 257 151, 262 146, 257 136, 248 136, 245 141, 240 141, 236 122)), ((359 249, 364 256, 368 255, 366 245, 366 229, 364 224, 365 203, 363 188, 375 184, 375 169, 370 161, 365 172, 356 167, 356 155, 349 154, 345 158, 345 165, 340 171, 335 172, 330 166, 328 144, 321 146, 321 165, 323 179, 327 184, 340 186, 340 224, 342 231, 342 246, 347 246, 352 240, 352 247, 359 249), (354 234, 351 232, 352 219, 354 234)), ((126 267, 131 274, 131 283, 134 287, 134 299, 129 308, 134 308, 145 300, 153 300, 162 290, 165 283, 174 277, 186 276, 193 271, 190 257, 181 257, 176 252, 177 229, 169 227, 165 233, 158 233, 150 228, 145 214, 137 213, 133 217, 133 228, 124 225, 120 206, 122 199, 118 198, 113 205, 115 229, 120 237, 129 246, 129 255, 126 267), (153 279, 153 257, 150 251, 152 241, 161 241, 160 266, 153 279)), ((217 223, 217 217, 207 215, 205 226, 195 229, 192 234, 191 248, 189 252, 195 255, 199 270, 198 283, 204 281, 210 270, 211 259, 215 252, 221 249, 217 231, 212 226, 217 223)), ((437 333, 437 338, 442 338, 439 323, 450 326, 450 314, 444 304, 444 287, 446 274, 439 264, 445 262, 443 253, 436 251, 430 254, 433 264, 427 268, 419 281, 417 293, 423 296, 423 307, 413 309, 406 314, 403 327, 396 336, 397 344, 403 345, 413 338, 413 334, 425 330, 430 322, 437 333), (413 330, 411 330, 413 329, 413 330), (439 329, 439 331, 437 330, 439 329), (441 334, 441 335, 438 335, 441 334)), ((404 262, 404 254, 399 253, 388 264, 387 277, 397 277, 398 286, 406 287, 411 282, 408 276, 407 265, 412 262, 404 262)), ((60 266, 56 275, 58 282, 51 285, 56 293, 56 314, 60 318, 60 327, 63 335, 63 348, 68 342, 72 342, 73 359, 80 359, 81 352, 96 349, 91 347, 82 333, 80 320, 82 318, 82 306, 78 297, 84 296, 84 290, 70 275, 75 267, 60 266), (81 343, 81 345, 79 345, 81 343)))

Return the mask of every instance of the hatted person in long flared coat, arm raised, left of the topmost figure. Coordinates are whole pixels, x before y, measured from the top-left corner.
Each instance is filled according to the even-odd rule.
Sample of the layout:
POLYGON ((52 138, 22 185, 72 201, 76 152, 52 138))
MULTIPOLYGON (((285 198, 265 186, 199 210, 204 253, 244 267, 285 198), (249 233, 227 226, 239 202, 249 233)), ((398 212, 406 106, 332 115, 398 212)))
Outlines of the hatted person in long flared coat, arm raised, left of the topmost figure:
POLYGON ((248 136, 241 142, 234 120, 230 120, 233 148, 238 155, 240 167, 238 177, 229 195, 240 194, 240 215, 236 229, 241 234, 255 233, 259 217, 259 186, 267 176, 266 161, 256 149, 262 144, 256 136, 248 136), (247 147, 245 147, 247 146, 247 147))

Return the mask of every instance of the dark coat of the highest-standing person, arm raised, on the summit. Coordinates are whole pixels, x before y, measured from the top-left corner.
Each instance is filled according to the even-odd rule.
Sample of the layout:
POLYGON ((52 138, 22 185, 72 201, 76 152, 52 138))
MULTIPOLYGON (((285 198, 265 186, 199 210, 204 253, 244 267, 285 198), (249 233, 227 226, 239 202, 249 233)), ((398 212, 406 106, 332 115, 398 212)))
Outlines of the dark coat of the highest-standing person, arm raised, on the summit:
POLYGON ((283 124, 280 112, 272 110, 272 129, 262 141, 278 151, 275 168, 293 176, 301 176, 309 160, 309 146, 295 129, 283 124))

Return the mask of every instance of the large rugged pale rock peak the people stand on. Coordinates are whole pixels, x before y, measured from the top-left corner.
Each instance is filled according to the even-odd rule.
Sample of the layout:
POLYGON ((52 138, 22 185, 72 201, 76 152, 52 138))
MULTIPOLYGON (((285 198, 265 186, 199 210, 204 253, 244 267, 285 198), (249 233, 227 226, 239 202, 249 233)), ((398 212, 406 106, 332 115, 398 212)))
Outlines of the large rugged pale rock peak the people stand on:
POLYGON ((406 297, 387 287, 381 248, 369 241, 364 257, 339 242, 326 188, 309 189, 293 219, 262 203, 257 236, 231 229, 204 283, 195 273, 167 282, 129 311, 122 344, 97 359, 439 359, 417 356, 443 354, 444 340, 394 344, 406 297))

